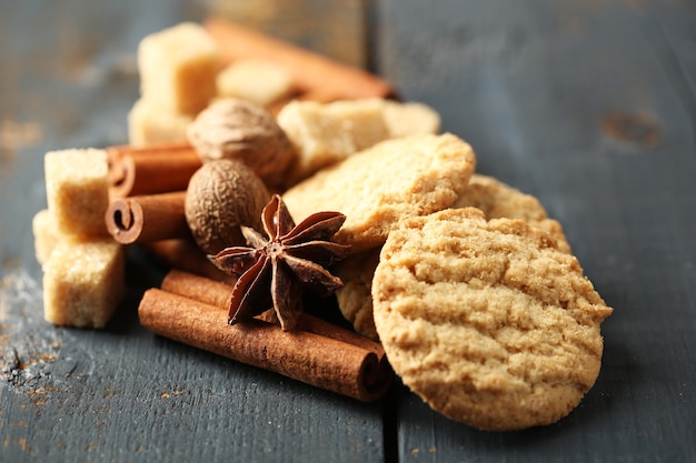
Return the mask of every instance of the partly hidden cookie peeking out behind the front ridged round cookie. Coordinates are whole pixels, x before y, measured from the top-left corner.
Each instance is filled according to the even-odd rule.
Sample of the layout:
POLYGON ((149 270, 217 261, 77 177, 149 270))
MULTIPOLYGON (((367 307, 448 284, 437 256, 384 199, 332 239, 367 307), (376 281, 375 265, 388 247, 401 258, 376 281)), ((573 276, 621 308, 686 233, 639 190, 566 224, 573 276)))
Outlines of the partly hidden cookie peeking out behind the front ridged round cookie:
POLYGON ((467 189, 459 195, 453 208, 478 208, 487 219, 519 219, 544 230, 558 241, 558 248, 570 252, 570 244, 563 232, 560 222, 549 219, 546 209, 531 194, 503 183, 501 181, 475 173, 469 180, 467 189))

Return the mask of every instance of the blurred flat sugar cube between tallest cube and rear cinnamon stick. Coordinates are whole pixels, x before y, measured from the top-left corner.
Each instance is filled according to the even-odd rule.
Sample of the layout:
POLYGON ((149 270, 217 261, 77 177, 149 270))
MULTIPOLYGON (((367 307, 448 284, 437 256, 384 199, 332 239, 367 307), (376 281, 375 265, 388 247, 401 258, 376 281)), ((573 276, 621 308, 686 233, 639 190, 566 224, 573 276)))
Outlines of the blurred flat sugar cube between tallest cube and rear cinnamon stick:
POLYGON ((240 59, 218 73, 217 89, 218 97, 240 98, 267 107, 292 93, 292 77, 272 61, 240 59))

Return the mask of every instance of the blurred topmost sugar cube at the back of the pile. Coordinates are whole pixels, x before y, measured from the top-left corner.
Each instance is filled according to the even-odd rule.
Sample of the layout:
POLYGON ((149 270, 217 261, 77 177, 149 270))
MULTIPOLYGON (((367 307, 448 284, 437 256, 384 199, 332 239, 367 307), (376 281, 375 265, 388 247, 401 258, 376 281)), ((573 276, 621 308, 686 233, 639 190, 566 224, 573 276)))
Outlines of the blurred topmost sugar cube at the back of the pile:
POLYGON ((141 95, 162 109, 195 115, 216 95, 216 43, 200 24, 183 22, 140 41, 141 95))

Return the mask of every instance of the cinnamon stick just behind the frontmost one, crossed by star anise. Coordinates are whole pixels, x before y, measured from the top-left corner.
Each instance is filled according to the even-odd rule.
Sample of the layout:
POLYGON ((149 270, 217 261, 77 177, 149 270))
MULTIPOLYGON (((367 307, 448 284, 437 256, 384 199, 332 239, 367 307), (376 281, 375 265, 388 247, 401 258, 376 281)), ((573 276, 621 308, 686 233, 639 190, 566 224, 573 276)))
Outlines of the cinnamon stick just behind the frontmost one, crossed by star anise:
MULTIPOLYGON (((227 309, 232 286, 223 282, 213 281, 181 270, 170 270, 161 283, 161 289, 173 294, 200 301, 220 309, 227 309)), ((378 342, 361 336, 352 331, 344 330, 318 316, 302 313, 298 329, 309 331, 337 341, 358 345, 375 352, 380 362, 386 362, 385 351, 378 342)))

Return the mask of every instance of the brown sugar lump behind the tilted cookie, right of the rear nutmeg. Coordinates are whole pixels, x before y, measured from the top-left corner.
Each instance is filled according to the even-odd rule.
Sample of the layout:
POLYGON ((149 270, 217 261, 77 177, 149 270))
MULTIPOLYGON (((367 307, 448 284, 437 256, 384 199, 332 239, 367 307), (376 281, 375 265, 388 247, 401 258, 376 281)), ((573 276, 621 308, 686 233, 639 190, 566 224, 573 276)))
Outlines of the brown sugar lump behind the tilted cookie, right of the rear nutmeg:
POLYGON ((389 138, 377 99, 292 101, 280 110, 277 120, 298 152, 288 173, 289 184, 389 138))

